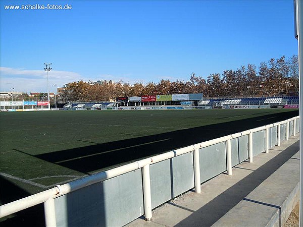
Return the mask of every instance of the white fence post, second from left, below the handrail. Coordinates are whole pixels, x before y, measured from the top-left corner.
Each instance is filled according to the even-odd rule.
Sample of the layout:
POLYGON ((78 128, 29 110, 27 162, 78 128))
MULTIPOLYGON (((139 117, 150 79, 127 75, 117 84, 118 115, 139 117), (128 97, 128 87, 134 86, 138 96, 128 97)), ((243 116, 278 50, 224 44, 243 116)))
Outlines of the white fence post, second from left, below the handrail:
POLYGON ((151 220, 151 195, 150 195, 150 176, 149 164, 143 166, 143 197, 144 197, 144 216, 145 220, 151 220))

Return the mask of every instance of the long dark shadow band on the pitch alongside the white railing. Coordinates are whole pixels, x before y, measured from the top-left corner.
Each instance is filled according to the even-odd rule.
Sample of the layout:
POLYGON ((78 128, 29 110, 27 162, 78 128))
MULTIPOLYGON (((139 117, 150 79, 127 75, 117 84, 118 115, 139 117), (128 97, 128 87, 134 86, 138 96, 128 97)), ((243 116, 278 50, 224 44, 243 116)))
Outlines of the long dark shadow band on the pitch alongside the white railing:
MULTIPOLYGON (((74 169, 83 174, 91 174, 113 166, 119 166, 122 163, 283 121, 297 115, 297 110, 281 112, 233 122, 39 154, 35 157, 74 169)), ((121 132, 123 133, 123 129, 121 132)))

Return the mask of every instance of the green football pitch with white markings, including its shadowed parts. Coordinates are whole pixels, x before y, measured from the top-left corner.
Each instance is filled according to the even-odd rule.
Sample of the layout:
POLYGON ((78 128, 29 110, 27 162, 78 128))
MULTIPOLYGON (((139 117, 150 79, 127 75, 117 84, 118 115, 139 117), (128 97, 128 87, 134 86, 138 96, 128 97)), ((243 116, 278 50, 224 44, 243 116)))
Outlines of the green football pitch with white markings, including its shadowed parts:
POLYGON ((1 112, 1 204, 146 156, 294 116, 298 110, 1 112))

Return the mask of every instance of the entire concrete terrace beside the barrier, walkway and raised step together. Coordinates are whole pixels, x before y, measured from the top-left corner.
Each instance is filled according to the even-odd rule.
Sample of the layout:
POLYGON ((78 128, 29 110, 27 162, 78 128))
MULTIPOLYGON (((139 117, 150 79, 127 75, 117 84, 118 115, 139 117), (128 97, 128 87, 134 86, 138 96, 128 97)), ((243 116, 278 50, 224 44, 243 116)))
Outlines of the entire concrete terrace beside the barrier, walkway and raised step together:
POLYGON ((126 226, 283 226, 299 199, 299 134, 126 226))

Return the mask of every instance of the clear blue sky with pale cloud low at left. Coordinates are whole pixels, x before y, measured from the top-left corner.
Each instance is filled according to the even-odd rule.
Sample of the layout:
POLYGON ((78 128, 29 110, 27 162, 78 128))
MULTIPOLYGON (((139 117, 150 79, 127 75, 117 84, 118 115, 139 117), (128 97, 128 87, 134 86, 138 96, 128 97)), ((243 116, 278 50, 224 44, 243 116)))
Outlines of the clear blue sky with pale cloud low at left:
POLYGON ((158 83, 297 54, 289 1, 1 1, 1 91, 158 83), (5 6, 69 5, 70 10, 5 6), (57 84, 58 86, 53 86, 57 84))

